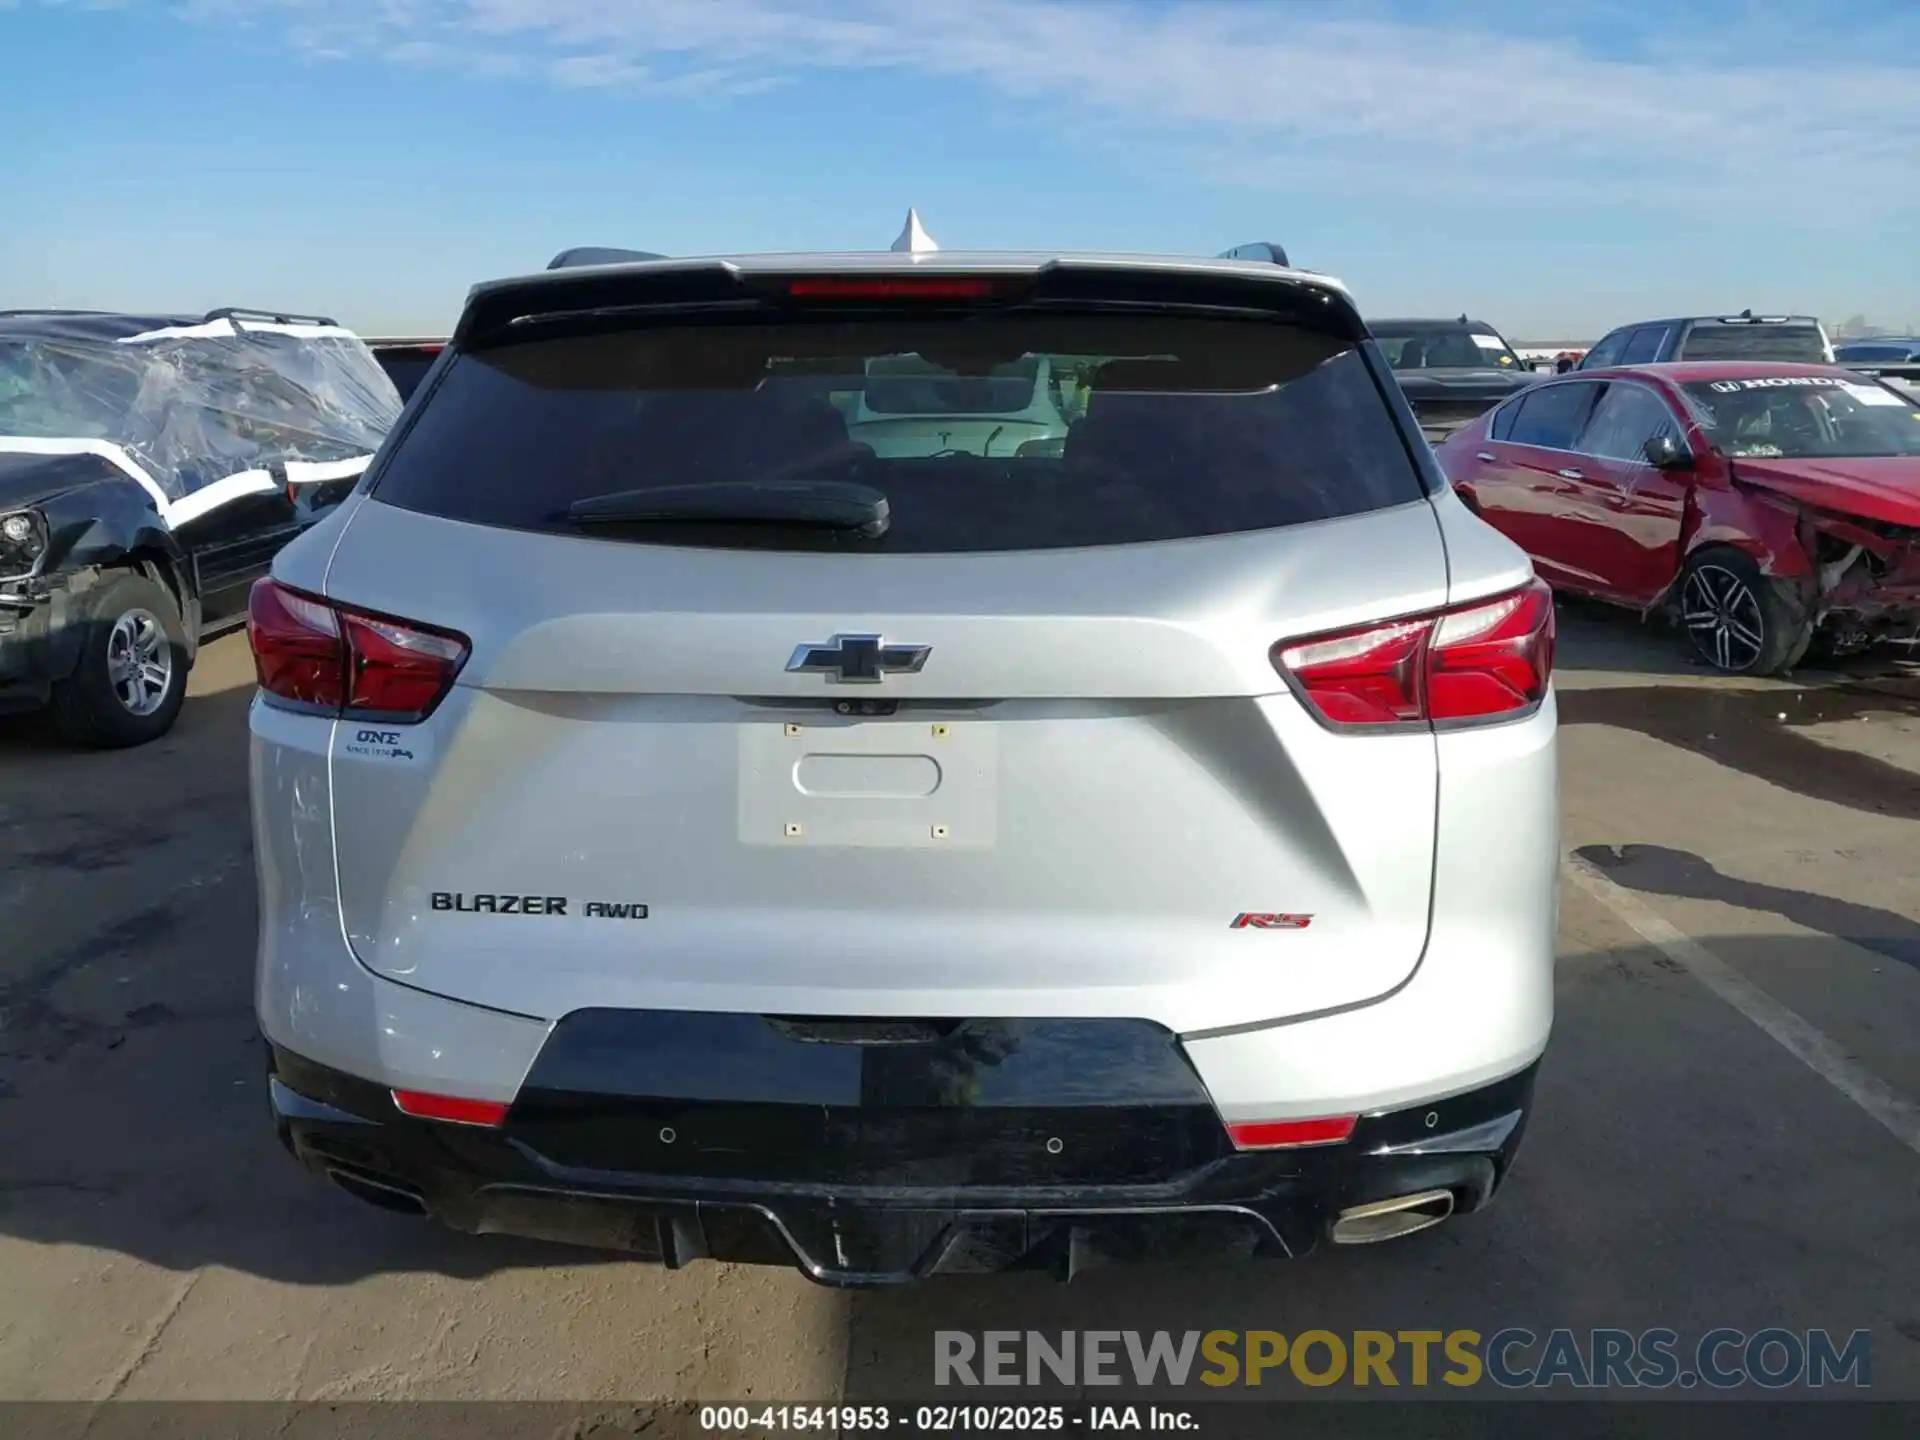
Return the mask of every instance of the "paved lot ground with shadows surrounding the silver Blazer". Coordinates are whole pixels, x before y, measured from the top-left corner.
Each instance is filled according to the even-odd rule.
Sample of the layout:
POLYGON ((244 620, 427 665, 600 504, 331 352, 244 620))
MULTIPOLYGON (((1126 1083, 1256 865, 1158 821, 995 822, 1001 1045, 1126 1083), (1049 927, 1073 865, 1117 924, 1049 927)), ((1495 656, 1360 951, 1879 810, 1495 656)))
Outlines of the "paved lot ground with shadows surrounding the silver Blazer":
POLYGON ((924 1398, 935 1329, 1501 1325, 1864 1327, 1874 1394, 1920 1398, 1901 666, 1716 678, 1563 609, 1559 1020, 1486 1213, 1294 1265, 856 1296, 449 1235, 282 1154, 252 1021, 250 682, 234 636, 157 745, 0 730, 0 1398, 924 1398), (1734 991, 1701 983, 1715 964, 1734 991), (1826 1060, 1728 993, 1791 1010, 1826 1060))

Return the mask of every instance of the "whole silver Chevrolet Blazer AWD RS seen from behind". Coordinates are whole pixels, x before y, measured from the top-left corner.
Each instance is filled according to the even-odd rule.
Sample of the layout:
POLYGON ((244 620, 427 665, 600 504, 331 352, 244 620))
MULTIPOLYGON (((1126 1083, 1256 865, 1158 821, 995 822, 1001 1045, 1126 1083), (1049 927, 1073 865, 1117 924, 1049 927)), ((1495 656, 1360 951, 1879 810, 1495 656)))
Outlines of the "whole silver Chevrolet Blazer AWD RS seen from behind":
POLYGON ((365 1200, 879 1284, 1380 1240, 1513 1162, 1551 597, 1336 280, 484 284, 250 634, 275 1117, 365 1200), (833 397, 902 365, 1081 401, 881 453, 833 397))

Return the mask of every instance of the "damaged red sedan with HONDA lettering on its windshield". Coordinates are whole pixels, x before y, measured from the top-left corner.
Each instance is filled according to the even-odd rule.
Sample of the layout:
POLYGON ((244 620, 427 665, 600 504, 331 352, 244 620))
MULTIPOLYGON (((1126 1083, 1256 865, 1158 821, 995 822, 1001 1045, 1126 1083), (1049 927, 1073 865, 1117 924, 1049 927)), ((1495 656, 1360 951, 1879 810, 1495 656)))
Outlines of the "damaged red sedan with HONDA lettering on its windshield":
POLYGON ((1834 365, 1578 371, 1436 447, 1555 589, 1670 609, 1720 670, 1920 643, 1920 405, 1834 365))

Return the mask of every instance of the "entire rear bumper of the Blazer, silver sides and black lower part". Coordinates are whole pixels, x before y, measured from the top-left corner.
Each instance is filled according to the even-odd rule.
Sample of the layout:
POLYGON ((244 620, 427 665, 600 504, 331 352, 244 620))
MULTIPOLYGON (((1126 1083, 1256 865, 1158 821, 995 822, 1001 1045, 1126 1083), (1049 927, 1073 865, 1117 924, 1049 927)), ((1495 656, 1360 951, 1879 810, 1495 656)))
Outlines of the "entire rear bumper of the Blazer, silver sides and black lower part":
MULTIPOLYGON (((255 703, 255 1012, 275 1046, 282 1137, 367 1198, 467 1231, 666 1263, 797 1263, 828 1283, 877 1284, 1008 1265, 1071 1273, 1106 1254, 1165 1258, 1183 1238, 1204 1250, 1298 1254, 1340 1210, 1371 1200, 1448 1188, 1461 1210, 1484 1204, 1519 1142, 1553 1020, 1551 701, 1524 722, 1436 737, 1432 920, 1419 966, 1390 993, 1183 1037, 1139 1020, 998 1020, 991 1025, 1012 1048, 983 1044, 939 1075, 876 1066, 893 1073, 877 1075, 874 1092, 864 1075, 849 1092, 851 1081, 818 1062, 837 1044, 803 1046, 818 1064, 774 1069, 764 1054, 716 1068, 680 1048, 666 1050, 674 1064, 645 1071, 634 1058, 657 1052, 660 1037, 620 1027, 643 1027, 659 1010, 553 1004, 513 1014, 367 970, 344 935, 328 733, 324 722, 255 703), (601 1043, 557 1046, 584 1014, 618 1020, 601 1043), (1052 1064, 983 1062, 1033 1044, 1044 1058, 1041 1031, 1087 1023, 1106 1027, 1106 1052, 1075 1058, 1052 1044, 1052 1064), (1158 1058, 1142 1060, 1152 1044, 1158 1058), (1112 1046, 1127 1066, 1104 1064, 1112 1046), (595 1054, 620 1064, 588 1064, 595 1054), (687 1077, 680 1089, 674 1075, 687 1077), (762 1089, 743 1092, 741 1075, 762 1089), (497 1131, 419 1121, 396 1110, 388 1087, 511 1102, 513 1114, 497 1131), (835 1125, 822 1114, 849 1106, 937 1114, 891 1116, 900 1121, 895 1140, 877 1144, 864 1125, 849 1135, 858 1117, 835 1125), (1242 1156, 1225 1142, 1223 1121, 1323 1116, 1363 1119, 1346 1144, 1321 1150, 1242 1156), (1490 1129, 1461 1139, 1482 1125, 1490 1129), (662 1127, 674 1131, 672 1164, 657 1148, 662 1127), (701 1146, 689 1139, 697 1133, 701 1146), (1402 1135, 1421 1150, 1398 1150, 1402 1135), (1052 1139, 1062 1140, 1058 1160, 1052 1139), (1438 1139, 1448 1148, 1423 1144, 1438 1139)), ((528 950, 526 960, 538 956, 528 950)), ((1117 1010, 1108 993, 1085 998, 1087 1010, 1117 1010)), ((666 1014, 684 1021, 716 1008, 666 1014)), ((764 1023, 751 1014, 718 1020, 764 1023)))

